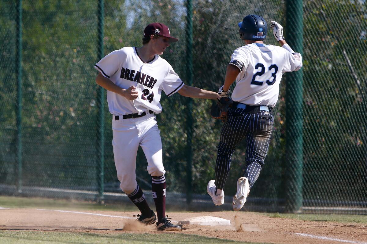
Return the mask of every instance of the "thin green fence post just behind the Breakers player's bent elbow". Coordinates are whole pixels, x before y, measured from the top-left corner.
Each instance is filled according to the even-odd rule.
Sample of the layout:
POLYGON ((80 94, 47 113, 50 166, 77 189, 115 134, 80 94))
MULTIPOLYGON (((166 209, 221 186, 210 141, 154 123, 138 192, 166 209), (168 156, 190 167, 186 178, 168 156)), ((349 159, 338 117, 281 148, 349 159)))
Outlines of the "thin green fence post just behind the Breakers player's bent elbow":
MULTIPOLYGON (((103 58, 103 26, 104 26, 104 2, 98 0, 98 48, 97 58, 103 58)), ((105 90, 103 87, 97 88, 97 180, 98 180, 98 199, 99 203, 104 202, 104 176, 105 176, 105 90)))

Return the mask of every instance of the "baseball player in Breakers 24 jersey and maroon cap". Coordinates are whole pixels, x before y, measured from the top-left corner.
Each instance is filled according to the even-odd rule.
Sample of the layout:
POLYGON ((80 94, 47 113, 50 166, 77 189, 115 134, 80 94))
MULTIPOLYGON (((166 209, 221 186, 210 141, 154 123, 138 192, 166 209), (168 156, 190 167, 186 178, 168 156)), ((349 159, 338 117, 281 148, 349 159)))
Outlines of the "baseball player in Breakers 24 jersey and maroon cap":
POLYGON ((171 224, 166 210, 166 171, 163 167, 162 142, 155 114, 162 111, 161 92, 168 97, 178 92, 192 98, 219 99, 218 93, 186 86, 172 66, 159 55, 178 41, 161 23, 146 26, 143 46, 124 47, 103 57, 94 67, 96 82, 107 89, 108 108, 112 114, 113 154, 120 188, 138 207, 138 221, 157 230, 180 230, 171 224), (136 181, 136 157, 141 146, 152 176, 152 195, 157 217, 150 209, 136 181))

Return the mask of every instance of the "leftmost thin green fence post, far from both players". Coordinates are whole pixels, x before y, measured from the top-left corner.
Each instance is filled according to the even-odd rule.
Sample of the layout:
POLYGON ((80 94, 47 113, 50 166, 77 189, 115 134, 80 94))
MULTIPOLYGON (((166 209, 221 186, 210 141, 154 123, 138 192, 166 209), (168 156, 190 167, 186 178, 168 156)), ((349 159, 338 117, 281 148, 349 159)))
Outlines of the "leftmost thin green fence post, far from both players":
POLYGON ((17 192, 22 192, 22 0, 17 7, 17 44, 15 64, 17 66, 17 192))

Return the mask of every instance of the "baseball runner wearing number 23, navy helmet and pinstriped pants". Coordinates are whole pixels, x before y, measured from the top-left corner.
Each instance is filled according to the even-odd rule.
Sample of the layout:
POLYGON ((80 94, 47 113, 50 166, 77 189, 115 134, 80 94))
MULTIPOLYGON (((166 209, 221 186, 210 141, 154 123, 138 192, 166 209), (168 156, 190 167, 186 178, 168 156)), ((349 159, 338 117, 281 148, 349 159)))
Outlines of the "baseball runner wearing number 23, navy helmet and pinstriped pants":
POLYGON ((237 193, 232 202, 235 211, 243 207, 264 166, 273 129, 272 110, 278 100, 281 76, 302 67, 301 54, 295 53, 286 43, 279 23, 272 21, 270 28, 281 47, 264 44, 268 26, 261 16, 247 15, 238 26, 240 38, 246 45, 233 52, 224 85, 218 91, 221 97, 227 97, 229 87, 236 80, 233 104, 221 130, 215 180, 209 181, 207 186, 214 204, 222 205, 232 153, 238 143, 246 140, 246 172, 237 181, 237 193))

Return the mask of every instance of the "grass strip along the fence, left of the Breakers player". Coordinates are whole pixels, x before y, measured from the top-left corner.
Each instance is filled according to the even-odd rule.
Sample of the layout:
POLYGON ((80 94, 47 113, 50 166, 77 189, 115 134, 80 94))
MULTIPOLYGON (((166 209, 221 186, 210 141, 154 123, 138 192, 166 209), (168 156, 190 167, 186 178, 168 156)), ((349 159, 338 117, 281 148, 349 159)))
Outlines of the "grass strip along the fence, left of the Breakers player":
POLYGON ((77 200, 60 200, 48 198, 24 198, 15 196, 0 196, 0 207, 7 208, 37 208, 62 210, 102 210, 102 211, 136 211, 132 203, 99 204, 77 200))

